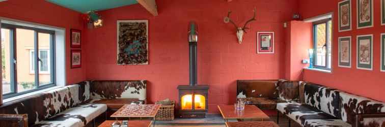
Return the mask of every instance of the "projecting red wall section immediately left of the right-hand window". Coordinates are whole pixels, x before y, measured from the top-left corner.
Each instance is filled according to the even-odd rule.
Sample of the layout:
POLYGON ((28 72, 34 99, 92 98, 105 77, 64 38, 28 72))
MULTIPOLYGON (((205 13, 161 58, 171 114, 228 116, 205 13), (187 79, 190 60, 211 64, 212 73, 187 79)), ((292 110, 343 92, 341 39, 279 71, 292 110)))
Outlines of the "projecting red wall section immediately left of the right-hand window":
POLYGON ((301 60, 309 59, 307 49, 311 48, 312 24, 303 21, 290 21, 287 24, 285 79, 303 80, 303 68, 308 64, 301 63, 301 60))

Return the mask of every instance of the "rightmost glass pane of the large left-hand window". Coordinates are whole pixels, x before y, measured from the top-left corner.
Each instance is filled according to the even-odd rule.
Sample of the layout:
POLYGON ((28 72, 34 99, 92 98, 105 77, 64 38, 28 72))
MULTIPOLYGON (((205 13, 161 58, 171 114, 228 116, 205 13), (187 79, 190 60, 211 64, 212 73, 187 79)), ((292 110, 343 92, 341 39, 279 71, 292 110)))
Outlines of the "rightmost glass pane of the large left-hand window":
POLYGON ((39 33, 39 84, 51 83, 50 34, 39 33))

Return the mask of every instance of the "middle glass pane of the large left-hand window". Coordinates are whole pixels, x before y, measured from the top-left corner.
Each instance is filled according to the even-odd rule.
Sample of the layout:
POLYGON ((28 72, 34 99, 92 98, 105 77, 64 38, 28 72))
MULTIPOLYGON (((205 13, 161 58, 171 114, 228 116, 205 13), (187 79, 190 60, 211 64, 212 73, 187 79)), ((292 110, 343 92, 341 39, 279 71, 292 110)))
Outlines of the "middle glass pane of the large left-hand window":
POLYGON ((31 73, 30 63, 34 55, 30 55, 35 47, 35 31, 29 29, 16 29, 16 70, 17 70, 17 90, 18 92, 36 88, 35 74, 31 73))

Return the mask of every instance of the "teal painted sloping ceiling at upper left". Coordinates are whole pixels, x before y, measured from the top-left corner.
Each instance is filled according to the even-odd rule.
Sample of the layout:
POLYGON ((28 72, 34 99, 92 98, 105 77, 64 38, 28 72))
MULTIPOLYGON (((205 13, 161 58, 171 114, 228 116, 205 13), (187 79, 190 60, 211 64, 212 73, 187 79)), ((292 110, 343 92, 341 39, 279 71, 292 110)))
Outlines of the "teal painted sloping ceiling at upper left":
POLYGON ((137 4, 136 0, 46 0, 81 13, 137 4))

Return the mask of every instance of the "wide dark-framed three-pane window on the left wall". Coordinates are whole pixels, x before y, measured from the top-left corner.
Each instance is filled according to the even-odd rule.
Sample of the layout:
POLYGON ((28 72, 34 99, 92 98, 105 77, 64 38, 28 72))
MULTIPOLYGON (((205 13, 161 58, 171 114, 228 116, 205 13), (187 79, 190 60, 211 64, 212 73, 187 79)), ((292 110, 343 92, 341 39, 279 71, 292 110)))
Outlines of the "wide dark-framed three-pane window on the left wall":
POLYGON ((1 32, 4 98, 55 86, 55 31, 2 23, 1 32))

